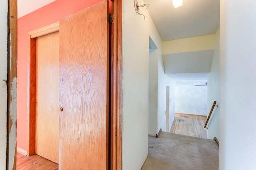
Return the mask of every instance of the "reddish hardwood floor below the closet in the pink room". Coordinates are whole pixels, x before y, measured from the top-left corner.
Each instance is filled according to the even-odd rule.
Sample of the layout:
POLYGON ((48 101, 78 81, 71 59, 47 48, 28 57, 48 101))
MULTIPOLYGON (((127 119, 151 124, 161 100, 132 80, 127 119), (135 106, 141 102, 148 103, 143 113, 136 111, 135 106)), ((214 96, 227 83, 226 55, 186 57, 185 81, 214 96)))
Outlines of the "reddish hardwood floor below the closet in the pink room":
POLYGON ((17 152, 17 170, 58 170, 58 164, 38 156, 24 156, 17 152))

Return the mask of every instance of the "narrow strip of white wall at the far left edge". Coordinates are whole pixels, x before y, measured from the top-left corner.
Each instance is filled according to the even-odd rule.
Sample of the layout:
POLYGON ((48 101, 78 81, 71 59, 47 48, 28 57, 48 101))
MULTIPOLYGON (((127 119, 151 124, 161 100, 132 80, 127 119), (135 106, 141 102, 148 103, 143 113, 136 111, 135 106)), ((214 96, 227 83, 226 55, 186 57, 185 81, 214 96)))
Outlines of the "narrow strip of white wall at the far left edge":
POLYGON ((6 168, 7 136, 7 11, 8 0, 0 1, 0 169, 6 168))

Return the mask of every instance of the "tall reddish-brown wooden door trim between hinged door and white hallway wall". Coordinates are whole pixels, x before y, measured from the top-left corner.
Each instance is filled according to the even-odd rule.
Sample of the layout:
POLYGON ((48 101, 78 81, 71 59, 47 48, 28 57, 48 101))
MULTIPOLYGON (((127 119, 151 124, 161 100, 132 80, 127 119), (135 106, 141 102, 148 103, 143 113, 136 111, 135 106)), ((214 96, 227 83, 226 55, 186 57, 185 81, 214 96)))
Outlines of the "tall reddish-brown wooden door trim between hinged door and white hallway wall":
POLYGON ((122 170, 122 0, 112 1, 110 169, 122 170))

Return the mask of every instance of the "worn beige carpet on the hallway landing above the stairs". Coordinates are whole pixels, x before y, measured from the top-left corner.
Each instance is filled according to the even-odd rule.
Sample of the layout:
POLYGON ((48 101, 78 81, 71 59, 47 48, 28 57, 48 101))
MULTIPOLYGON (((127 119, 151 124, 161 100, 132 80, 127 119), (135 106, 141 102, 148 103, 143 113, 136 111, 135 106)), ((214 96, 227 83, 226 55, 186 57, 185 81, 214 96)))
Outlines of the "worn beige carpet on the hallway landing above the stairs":
POLYGON ((141 170, 218 170, 218 154, 214 140, 162 132, 149 137, 141 170))

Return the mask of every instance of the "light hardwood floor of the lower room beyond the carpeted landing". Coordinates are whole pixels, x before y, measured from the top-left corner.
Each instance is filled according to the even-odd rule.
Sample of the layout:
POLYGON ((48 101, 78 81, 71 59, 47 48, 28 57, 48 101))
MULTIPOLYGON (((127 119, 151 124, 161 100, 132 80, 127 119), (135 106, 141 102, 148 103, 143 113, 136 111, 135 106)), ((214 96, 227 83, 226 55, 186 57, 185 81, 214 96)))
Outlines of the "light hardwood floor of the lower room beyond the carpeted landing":
POLYGON ((175 113, 170 133, 206 138, 206 116, 175 113))

